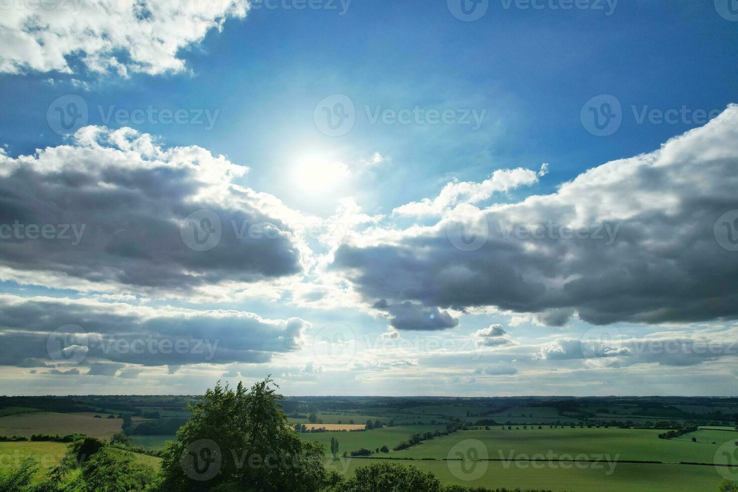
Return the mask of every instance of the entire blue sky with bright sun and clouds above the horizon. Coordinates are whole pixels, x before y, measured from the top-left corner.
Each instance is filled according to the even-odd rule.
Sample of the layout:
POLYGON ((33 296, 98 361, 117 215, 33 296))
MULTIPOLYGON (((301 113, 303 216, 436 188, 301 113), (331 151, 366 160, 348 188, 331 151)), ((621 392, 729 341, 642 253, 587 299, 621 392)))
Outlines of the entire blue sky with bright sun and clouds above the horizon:
POLYGON ((0 8, 0 393, 736 395, 734 0, 0 8))

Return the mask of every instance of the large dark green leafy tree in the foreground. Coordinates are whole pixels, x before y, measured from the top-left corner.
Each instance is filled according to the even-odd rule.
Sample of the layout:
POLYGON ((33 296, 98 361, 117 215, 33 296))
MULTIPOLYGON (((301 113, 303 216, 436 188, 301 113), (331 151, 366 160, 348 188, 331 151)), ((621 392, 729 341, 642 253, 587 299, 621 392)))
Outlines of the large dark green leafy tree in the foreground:
POLYGON ((190 405, 192 417, 162 452, 156 490, 227 491, 230 484, 240 491, 320 490, 323 445, 300 439, 270 385, 277 387, 266 378, 234 390, 218 381, 190 405))

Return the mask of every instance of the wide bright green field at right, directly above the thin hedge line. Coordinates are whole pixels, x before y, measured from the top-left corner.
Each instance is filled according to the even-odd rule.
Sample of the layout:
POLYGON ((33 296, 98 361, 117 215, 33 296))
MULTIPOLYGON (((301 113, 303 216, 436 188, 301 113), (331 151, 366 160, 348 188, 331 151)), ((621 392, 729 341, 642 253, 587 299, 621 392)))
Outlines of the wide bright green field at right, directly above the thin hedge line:
MULTIPOLYGON (((454 451, 466 452, 472 445, 469 440, 479 440, 486 446, 491 459, 538 453, 555 454, 609 454, 613 459, 662 461, 662 462, 706 462, 712 463, 718 445, 692 443, 690 440, 664 440, 658 434, 663 431, 651 429, 528 429, 500 430, 494 427, 489 431, 458 431, 449 436, 435 437, 418 446, 390 453, 390 456, 413 458, 446 458, 458 443, 462 448, 454 451)), ((720 432, 720 431, 718 431, 720 432)), ((723 434, 730 434, 724 432, 723 434)), ((730 437, 726 436, 725 440, 730 437)), ((725 440, 720 441, 720 444, 725 440)), ((718 458, 718 462, 725 462, 718 458)))

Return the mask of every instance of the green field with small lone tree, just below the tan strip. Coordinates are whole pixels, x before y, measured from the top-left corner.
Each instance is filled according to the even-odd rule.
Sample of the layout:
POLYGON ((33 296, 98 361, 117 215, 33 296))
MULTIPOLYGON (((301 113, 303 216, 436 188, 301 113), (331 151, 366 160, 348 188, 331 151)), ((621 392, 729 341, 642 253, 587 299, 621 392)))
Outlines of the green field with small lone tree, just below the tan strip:
POLYGON ((339 443, 339 454, 343 451, 355 451, 360 448, 367 448, 374 451, 376 448, 387 446, 392 449, 401 441, 407 440, 408 437, 416 432, 435 431, 435 429, 444 430, 445 426, 395 426, 382 427, 382 429, 373 429, 362 432, 315 432, 300 434, 304 440, 317 441, 325 445, 325 454, 331 454, 331 437, 336 437, 339 443))

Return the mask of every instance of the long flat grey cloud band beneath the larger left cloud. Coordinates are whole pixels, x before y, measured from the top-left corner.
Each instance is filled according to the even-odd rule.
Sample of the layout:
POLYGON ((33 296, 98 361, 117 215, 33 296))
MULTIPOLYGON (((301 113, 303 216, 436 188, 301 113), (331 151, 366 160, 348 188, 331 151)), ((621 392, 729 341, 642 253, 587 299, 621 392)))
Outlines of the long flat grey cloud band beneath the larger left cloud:
MULTIPOLYGON (((114 375, 125 364, 261 363, 303 345, 308 322, 244 311, 150 308, 97 299, 0 295, 0 365, 89 365, 114 375)), ((120 377, 133 377, 131 372, 120 377)))

